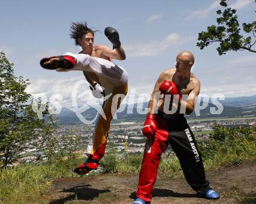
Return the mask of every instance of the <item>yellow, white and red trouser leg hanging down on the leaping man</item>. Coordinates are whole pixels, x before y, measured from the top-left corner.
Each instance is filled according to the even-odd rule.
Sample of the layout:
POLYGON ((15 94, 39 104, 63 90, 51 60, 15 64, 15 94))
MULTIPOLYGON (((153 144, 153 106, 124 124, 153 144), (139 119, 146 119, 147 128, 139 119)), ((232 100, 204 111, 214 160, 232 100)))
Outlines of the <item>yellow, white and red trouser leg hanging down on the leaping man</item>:
POLYGON ((128 85, 116 86, 112 90, 111 96, 104 101, 102 111, 104 111, 105 118, 102 116, 104 114, 99 114, 97 123, 95 125, 95 130, 93 138, 90 140, 87 147, 87 155, 93 155, 95 158, 101 159, 105 154, 106 148, 106 138, 109 134, 110 123, 118 110, 120 103, 125 98, 128 92, 128 85))

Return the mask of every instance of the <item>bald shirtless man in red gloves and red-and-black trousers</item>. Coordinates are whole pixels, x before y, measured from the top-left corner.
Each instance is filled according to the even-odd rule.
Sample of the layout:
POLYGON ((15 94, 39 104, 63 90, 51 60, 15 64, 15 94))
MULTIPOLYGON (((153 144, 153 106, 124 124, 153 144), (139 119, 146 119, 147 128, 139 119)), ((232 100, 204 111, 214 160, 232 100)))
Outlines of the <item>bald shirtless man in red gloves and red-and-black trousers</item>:
POLYGON ((219 198, 205 180, 197 143, 184 118, 184 114, 193 112, 200 92, 200 81, 191 73, 194 56, 183 51, 177 55, 176 61, 176 68, 160 74, 148 104, 150 111, 143 126, 147 142, 134 204, 151 202, 161 154, 168 144, 179 158, 187 183, 193 190, 207 199, 219 198))

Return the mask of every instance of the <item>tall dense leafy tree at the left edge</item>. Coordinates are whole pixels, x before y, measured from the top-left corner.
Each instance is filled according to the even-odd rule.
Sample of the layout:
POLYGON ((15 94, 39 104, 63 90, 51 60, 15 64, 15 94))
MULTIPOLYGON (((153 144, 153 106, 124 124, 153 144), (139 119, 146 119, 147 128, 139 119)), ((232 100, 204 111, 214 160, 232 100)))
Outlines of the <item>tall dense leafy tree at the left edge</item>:
POLYGON ((30 94, 25 92, 29 80, 15 77, 13 63, 0 52, 0 153, 1 167, 15 159, 17 152, 26 148, 26 143, 38 136, 38 128, 44 121, 38 119, 28 103, 30 94))

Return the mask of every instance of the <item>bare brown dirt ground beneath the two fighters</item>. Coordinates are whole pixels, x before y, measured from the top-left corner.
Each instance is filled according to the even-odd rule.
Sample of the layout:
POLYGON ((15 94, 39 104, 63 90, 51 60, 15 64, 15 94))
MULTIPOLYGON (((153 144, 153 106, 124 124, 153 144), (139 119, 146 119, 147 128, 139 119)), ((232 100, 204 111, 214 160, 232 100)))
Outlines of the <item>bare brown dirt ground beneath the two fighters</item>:
MULTIPOLYGON (((157 178, 151 203, 256 203, 256 162, 225 167, 207 173, 207 179, 221 198, 209 201, 199 198, 184 178, 157 178)), ((138 176, 103 174, 61 178, 42 199, 45 203, 133 203, 138 176)))

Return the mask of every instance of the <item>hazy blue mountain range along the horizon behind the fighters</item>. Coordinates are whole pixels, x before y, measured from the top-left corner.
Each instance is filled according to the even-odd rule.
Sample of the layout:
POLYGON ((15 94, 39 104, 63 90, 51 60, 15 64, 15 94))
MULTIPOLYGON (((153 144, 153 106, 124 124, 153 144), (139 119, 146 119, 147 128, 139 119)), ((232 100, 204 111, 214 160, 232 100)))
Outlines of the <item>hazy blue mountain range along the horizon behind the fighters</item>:
MULTIPOLYGON (((211 101, 211 100, 210 100, 211 101)), ((221 115, 213 115, 210 112, 210 108, 216 108, 216 105, 213 103, 209 103, 207 108, 200 110, 200 116, 195 115, 193 112, 191 115, 187 116, 187 118, 219 118, 219 117, 244 117, 244 116, 256 116, 256 96, 248 96, 248 97, 236 97, 236 98, 226 98, 224 101, 219 101, 223 105, 223 112, 221 115)), ((198 101, 198 103, 202 103, 202 101, 198 101)), ((122 104, 122 108, 124 111, 119 112, 117 114, 117 120, 113 120, 113 123, 122 121, 141 121, 145 118, 145 114, 138 114, 137 112, 137 104, 133 104, 133 108, 131 108, 132 114, 127 114, 127 104, 122 104), (125 106, 125 107, 124 107, 125 106)), ((144 108, 148 107, 148 103, 140 104, 143 105, 144 108)), ((141 109, 141 108, 140 108, 141 109)), ((218 109, 218 108, 216 108, 218 109)), ((83 117, 87 120, 93 120, 97 116, 97 110, 95 108, 89 108, 87 111, 83 112, 83 117)), ((81 123, 76 113, 70 111, 67 108, 63 108, 58 117, 58 122, 63 125, 78 125, 81 123)))

